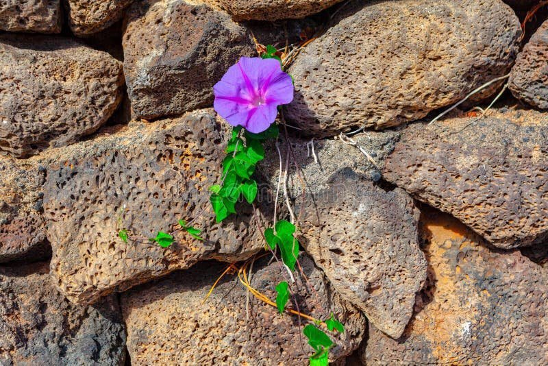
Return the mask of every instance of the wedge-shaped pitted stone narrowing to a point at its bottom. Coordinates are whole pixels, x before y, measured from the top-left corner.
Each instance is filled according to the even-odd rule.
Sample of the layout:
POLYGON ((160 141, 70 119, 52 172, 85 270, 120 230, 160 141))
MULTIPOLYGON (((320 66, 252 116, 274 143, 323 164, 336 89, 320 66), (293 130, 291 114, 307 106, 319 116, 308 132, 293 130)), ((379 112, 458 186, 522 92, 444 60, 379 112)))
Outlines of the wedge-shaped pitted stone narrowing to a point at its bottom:
POLYGON ((400 337, 426 279, 419 210, 400 188, 386 192, 342 171, 306 201, 303 245, 334 288, 371 324, 400 337))

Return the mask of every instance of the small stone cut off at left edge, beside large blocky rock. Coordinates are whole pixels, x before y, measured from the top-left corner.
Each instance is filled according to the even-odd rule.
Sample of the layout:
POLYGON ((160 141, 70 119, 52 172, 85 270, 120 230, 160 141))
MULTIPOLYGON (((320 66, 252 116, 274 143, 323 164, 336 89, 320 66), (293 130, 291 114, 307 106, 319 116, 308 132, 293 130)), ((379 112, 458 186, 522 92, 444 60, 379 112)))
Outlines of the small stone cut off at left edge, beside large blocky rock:
POLYGON ((45 168, 0 156, 0 263, 49 256, 42 219, 45 168))

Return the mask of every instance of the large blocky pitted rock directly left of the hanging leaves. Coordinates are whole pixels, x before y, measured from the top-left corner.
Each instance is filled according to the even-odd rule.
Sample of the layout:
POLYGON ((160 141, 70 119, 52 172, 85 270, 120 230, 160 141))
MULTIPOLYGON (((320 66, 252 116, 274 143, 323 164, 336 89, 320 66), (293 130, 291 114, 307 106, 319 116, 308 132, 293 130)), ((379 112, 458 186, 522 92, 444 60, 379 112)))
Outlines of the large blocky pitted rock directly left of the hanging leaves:
POLYGON ((51 273, 69 300, 94 302, 199 260, 242 260, 262 248, 249 205, 214 224, 208 188, 221 179, 228 136, 221 128, 212 110, 200 110, 136 121, 53 151, 44 215, 51 273), (195 219, 207 240, 179 231, 171 247, 149 243, 159 231, 175 230, 179 219, 195 219), (127 244, 117 236, 122 228, 129 232, 127 244))

